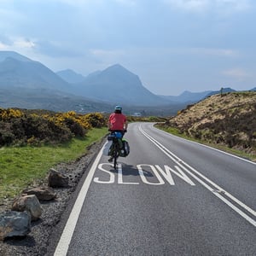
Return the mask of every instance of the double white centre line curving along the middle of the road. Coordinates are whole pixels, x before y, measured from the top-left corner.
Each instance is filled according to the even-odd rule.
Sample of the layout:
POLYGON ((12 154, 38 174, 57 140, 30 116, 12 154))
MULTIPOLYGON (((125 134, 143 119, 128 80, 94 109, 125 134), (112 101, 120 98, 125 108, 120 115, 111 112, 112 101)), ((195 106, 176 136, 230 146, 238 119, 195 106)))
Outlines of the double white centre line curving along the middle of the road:
POLYGON ((205 177, 204 175, 202 175, 200 172, 196 171, 195 168, 193 168, 192 166, 189 166, 187 163, 185 163, 183 160, 181 160, 180 158, 177 157, 177 155, 173 154, 168 148, 166 148, 164 145, 162 145, 161 143, 159 143, 157 140, 154 139, 154 137, 151 137, 148 135, 148 133, 146 131, 143 131, 142 127, 139 127, 139 130, 143 133, 143 135, 145 137, 148 138, 149 141, 151 141, 152 143, 154 143, 154 145, 157 148, 160 148, 160 150, 166 154, 171 160, 173 160, 178 166, 180 166, 185 172, 188 172, 192 177, 194 177, 199 183, 201 183, 205 188, 207 188, 208 190, 210 190, 213 195, 216 195, 220 200, 224 201, 225 204, 227 204, 229 207, 231 207, 234 211, 236 211, 238 214, 241 215, 242 218, 245 218, 250 224, 253 224, 253 226, 256 227, 256 221, 253 220, 253 218, 250 218, 245 212, 242 212, 238 207, 236 207, 234 204, 232 204, 232 202, 228 201, 227 199, 224 198, 224 196, 222 196, 219 193, 216 193, 216 189, 218 191, 222 191, 224 193, 224 195, 226 195, 227 197, 230 198, 231 201, 236 202, 236 204, 238 204, 240 207, 242 207, 244 210, 246 210, 247 212, 250 212, 251 214, 253 214, 253 216, 256 216, 256 212, 250 208, 247 207, 246 204, 244 204, 243 202, 239 201, 235 196, 231 195, 229 192, 225 191, 224 189, 222 189, 221 187, 219 187, 216 183, 213 183, 209 178, 205 177), (187 167, 187 168, 186 168, 187 167), (194 173, 190 172, 188 170, 188 168, 192 171, 195 172, 196 176, 194 173), (212 189, 209 185, 207 185, 207 183, 205 183, 203 180, 201 180, 201 178, 204 179, 205 181, 207 181, 207 183, 210 183, 213 187, 215 187, 215 189, 212 189))

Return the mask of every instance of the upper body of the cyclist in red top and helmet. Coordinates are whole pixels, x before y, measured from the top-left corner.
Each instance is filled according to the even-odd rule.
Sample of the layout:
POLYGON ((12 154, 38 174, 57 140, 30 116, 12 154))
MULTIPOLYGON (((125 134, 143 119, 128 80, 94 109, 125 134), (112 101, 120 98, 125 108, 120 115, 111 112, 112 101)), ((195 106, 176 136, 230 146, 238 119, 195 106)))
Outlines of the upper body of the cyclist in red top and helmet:
MULTIPOLYGON (((122 113, 122 107, 116 106, 114 112, 110 114, 108 118, 108 131, 119 131, 124 136, 127 131, 128 122, 125 114, 122 113)), ((113 155, 111 155, 109 162, 113 161, 113 155)))

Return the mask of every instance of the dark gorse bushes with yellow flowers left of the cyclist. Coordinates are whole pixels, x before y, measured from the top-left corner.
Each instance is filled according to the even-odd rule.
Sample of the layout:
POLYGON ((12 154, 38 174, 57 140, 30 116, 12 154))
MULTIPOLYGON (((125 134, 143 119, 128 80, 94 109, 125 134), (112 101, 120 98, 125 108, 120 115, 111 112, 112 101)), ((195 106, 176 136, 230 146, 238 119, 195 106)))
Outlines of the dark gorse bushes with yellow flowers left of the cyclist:
POLYGON ((0 146, 65 143, 84 137, 91 128, 101 128, 106 119, 101 113, 39 113, 0 108, 0 146))

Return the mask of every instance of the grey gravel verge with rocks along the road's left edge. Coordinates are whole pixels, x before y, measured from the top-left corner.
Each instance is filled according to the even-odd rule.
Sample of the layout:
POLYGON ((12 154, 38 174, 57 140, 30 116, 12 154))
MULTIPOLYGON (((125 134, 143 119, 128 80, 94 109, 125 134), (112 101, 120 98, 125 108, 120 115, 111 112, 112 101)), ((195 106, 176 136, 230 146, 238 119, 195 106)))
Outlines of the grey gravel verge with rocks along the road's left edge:
MULTIPOLYGON (((78 186, 79 180, 87 171, 92 160, 102 148, 104 141, 94 143, 87 148, 87 153, 78 160, 68 164, 61 163, 55 170, 69 177, 69 187, 54 189, 57 195, 55 201, 42 203, 44 212, 38 221, 32 222, 32 231, 24 237, 11 237, 0 241, 0 255, 4 256, 41 256, 48 254, 49 236, 61 219, 61 214, 71 200, 73 192, 78 186)), ((47 177, 40 184, 47 184, 47 177)), ((13 201, 7 201, 0 206, 0 212, 9 211, 13 201)))

